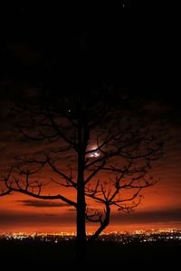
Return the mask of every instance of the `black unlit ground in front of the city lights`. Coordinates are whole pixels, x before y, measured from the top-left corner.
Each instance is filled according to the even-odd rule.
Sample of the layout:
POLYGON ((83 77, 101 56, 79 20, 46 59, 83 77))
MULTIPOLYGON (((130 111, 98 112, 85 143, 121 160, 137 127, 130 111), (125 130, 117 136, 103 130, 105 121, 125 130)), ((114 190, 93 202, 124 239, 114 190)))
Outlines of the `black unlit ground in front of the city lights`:
MULTIPOLYGON (((4 262, 9 265, 13 264, 14 270, 17 270, 18 266, 24 265, 24 262, 29 262, 30 266, 36 267, 43 266, 43 264, 60 266, 62 263, 62 266, 71 266, 75 265, 74 247, 75 244, 71 241, 53 244, 1 240, 0 256, 4 262)), ((175 270, 175 266, 179 266, 180 257, 180 242, 131 243, 128 245, 96 242, 88 249, 85 269, 89 270, 90 266, 101 265, 102 267, 135 267, 136 270, 149 270, 150 268, 157 270, 158 266, 162 267, 161 270, 165 270, 166 266, 171 266, 175 270)), ((27 265, 25 266, 27 267, 27 265)), ((121 269, 118 268, 118 270, 121 269)))

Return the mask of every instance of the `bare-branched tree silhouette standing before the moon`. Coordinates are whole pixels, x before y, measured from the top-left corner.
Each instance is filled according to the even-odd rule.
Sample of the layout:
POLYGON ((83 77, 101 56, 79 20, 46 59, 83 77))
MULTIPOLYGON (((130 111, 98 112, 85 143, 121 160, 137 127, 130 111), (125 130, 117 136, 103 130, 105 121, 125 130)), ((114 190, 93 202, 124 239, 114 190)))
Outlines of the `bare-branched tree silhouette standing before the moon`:
POLYGON ((87 93, 41 89, 22 97, 16 105, 22 139, 43 144, 44 149, 18 155, 18 165, 4 178, 6 188, 75 208, 77 257, 83 258, 87 242, 109 225, 110 210, 133 210, 140 192, 155 183, 147 173, 162 144, 137 102, 118 89, 87 93), (51 190, 43 192, 50 182, 40 179, 47 167, 52 171, 50 182, 60 186, 53 195, 51 190), (63 195, 61 187, 73 190, 74 198, 63 195), (99 223, 90 237, 86 220, 99 223))

